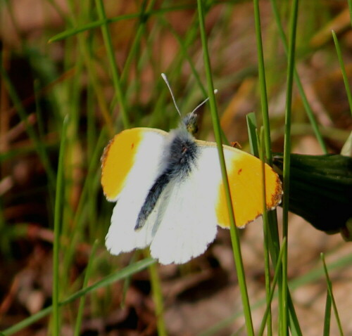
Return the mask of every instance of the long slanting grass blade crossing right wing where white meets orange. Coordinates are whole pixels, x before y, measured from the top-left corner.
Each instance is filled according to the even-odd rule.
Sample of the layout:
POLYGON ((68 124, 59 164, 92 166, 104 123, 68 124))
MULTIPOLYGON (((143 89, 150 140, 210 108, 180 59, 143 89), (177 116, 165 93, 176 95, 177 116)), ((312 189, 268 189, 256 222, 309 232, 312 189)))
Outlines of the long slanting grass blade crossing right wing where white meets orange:
POLYGON ((220 121, 217 112, 217 106, 215 102, 215 93, 214 93, 214 86, 213 80, 211 75, 211 67, 210 67, 210 58, 208 54, 208 43, 206 39, 206 29, 205 29, 205 18, 204 18, 204 8, 203 8, 203 1, 198 0, 198 13, 199 13, 199 29, 201 32, 201 42, 202 42, 202 49, 203 49, 203 58, 204 58, 204 67, 206 70, 206 79, 208 83, 208 94, 210 98, 210 112, 211 117, 213 120, 213 127, 214 127, 214 134, 216 143, 218 146, 218 154, 220 160, 220 167, 221 167, 221 174, 222 174, 222 181, 225 187, 225 195, 227 199, 227 209, 229 210, 229 217, 230 217, 230 234, 231 234, 231 241, 232 241, 232 250, 234 252, 234 261, 237 270, 237 277, 239 280, 239 288, 241 290, 241 299, 244 308, 244 316, 246 319, 246 331, 247 335, 254 335, 253 331, 253 322, 251 317, 251 307, 249 305, 249 297, 248 291, 246 287, 246 279, 244 275, 244 265, 241 259, 241 249, 239 247, 239 234, 237 232, 237 227, 234 222, 234 209, 232 208, 232 201, 230 195, 230 187, 229 181, 227 179, 227 172, 225 167, 225 158, 224 153, 222 150, 222 137, 220 131, 220 121))

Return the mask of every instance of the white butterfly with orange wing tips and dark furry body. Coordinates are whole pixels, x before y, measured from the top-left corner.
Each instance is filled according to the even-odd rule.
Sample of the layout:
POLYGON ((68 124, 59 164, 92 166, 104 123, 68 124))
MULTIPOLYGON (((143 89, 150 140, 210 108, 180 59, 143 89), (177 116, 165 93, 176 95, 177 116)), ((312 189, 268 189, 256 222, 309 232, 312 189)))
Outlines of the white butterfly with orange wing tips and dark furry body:
MULTIPOLYGON (((106 235, 111 254, 150 245, 151 256, 161 264, 184 264, 213 242, 218 225, 230 228, 218 150, 215 143, 194 138, 194 111, 169 133, 126 129, 105 148, 101 185, 106 198, 116 202, 106 235)), ((243 228, 264 211, 262 162, 222 147, 236 225, 243 228)), ((267 209, 275 209, 282 186, 268 164, 265 190, 267 209)))

